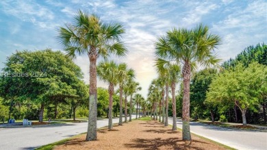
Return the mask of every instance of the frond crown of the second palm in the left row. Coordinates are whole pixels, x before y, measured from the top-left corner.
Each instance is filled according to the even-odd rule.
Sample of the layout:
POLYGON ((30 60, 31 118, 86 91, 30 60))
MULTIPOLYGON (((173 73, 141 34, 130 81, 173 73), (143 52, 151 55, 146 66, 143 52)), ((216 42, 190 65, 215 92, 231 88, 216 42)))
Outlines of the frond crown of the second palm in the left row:
POLYGON ((97 75, 104 82, 116 85, 118 83, 118 65, 114 61, 99 62, 97 75))

